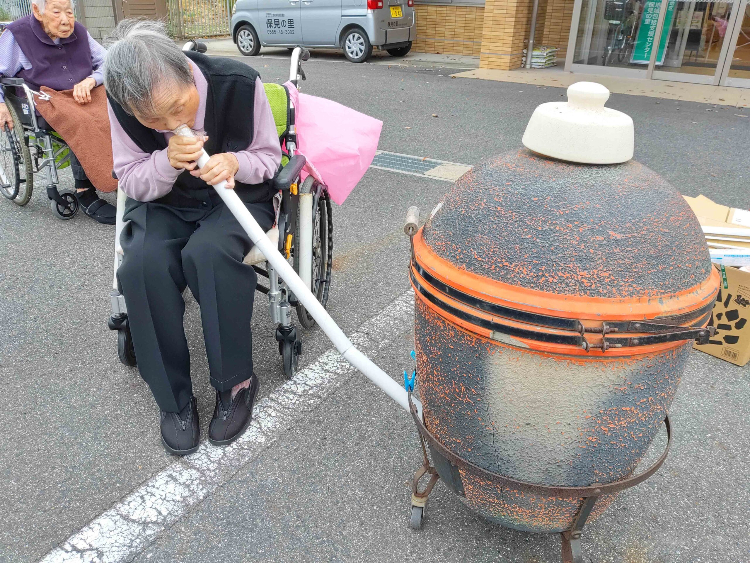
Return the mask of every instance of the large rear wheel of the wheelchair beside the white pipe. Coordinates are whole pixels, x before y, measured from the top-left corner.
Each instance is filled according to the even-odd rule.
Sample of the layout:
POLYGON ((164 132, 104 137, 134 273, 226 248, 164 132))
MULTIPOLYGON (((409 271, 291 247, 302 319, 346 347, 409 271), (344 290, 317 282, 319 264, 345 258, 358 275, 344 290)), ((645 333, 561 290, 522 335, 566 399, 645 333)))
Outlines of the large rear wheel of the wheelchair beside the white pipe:
MULTIPOLYGON (((313 176, 305 178, 299 193, 315 193, 318 185, 313 176)), ((313 272, 311 275, 312 292, 315 298, 325 307, 328 300, 328 285, 331 279, 332 264, 332 240, 330 236, 330 206, 326 206, 328 194, 321 194, 313 209, 313 272)), ((295 241, 299 240, 299 221, 297 221, 294 233, 295 241)), ((294 253, 294 271, 299 274, 299 253, 294 253)), ((298 305, 297 318, 305 328, 315 326, 315 319, 310 316, 305 306, 298 305)))

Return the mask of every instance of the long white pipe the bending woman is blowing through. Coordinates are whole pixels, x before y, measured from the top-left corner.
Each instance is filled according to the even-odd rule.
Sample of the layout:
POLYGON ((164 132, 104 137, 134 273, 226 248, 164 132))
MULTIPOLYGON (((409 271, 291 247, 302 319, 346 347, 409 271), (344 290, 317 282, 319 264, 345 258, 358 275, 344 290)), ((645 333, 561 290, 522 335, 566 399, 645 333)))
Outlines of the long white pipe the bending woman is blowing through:
MULTIPOLYGON (((187 125, 180 125, 175 129, 176 135, 184 137, 196 137, 196 134, 187 127, 187 125)), ((198 158, 198 167, 205 166, 208 162, 208 153, 202 151, 202 155, 198 158)), ((407 412, 409 411, 408 393, 404 387, 401 387, 398 383, 392 380, 390 376, 383 372, 378 366, 376 366, 365 354, 362 354, 355 345, 352 344, 347 335, 338 327, 338 324, 331 318, 331 315, 326 309, 320 304, 315 296, 312 294, 305 281, 297 275, 290 263, 287 262, 281 253, 279 253, 276 245, 274 245, 260 225, 257 223, 248 208, 245 207, 245 203, 239 199, 238 195, 233 189, 226 188, 226 182, 219 182, 214 185, 214 189, 217 194, 221 197, 229 211, 236 217, 245 232, 248 233, 251 240, 255 243, 258 249, 261 251, 266 260, 276 269, 278 274, 284 281, 287 282, 289 288, 293 291, 295 297, 299 300, 305 309, 308 310, 312 318, 317 321, 326 336, 329 337, 336 349, 341 352, 347 362, 352 364, 356 369, 365 374, 365 376, 382 389, 386 395, 391 397, 395 402, 398 402, 407 412)), ((419 417, 422 418, 422 403, 417 399, 412 399, 414 405, 416 405, 419 411, 419 417)))

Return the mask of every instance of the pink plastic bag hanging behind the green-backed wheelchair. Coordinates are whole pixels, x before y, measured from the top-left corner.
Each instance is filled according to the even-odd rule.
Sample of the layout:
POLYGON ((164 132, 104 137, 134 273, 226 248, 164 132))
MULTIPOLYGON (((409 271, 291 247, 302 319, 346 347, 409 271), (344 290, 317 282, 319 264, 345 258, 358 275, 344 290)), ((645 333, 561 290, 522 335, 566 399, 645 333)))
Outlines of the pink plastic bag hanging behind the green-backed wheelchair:
POLYGON ((383 122, 303 94, 290 82, 284 86, 295 107, 297 149, 308 160, 305 171, 326 184, 331 199, 341 205, 375 158, 383 122))

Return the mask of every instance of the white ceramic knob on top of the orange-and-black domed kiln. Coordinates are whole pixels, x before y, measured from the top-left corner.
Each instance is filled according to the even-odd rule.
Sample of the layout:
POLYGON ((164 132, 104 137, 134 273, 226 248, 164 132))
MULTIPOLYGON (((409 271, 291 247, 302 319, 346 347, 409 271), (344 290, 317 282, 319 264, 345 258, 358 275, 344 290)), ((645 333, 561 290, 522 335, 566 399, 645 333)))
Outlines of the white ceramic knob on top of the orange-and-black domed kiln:
POLYGON ((540 155, 583 164, 616 164, 633 158, 630 116, 604 107, 610 92, 595 82, 568 87, 568 101, 541 104, 535 110, 523 145, 540 155))

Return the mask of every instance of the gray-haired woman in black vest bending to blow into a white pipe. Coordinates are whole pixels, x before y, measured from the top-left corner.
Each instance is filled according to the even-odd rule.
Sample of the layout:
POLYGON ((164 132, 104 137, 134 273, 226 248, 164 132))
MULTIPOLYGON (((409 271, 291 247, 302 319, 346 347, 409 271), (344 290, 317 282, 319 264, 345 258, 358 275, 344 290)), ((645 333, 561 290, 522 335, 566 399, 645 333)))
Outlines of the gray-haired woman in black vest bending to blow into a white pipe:
POLYGON ((118 281, 138 368, 161 409, 161 441, 184 455, 199 441, 182 321, 186 285, 200 305, 216 389, 212 443, 242 435, 258 390, 251 339, 257 277, 242 262, 253 242, 211 185, 227 180, 268 230, 281 147, 253 68, 184 53, 153 21, 124 20, 108 42, 114 169, 127 194, 118 281), (172 134, 180 125, 200 131, 199 139, 172 134), (197 169, 202 148, 212 156, 197 169))

